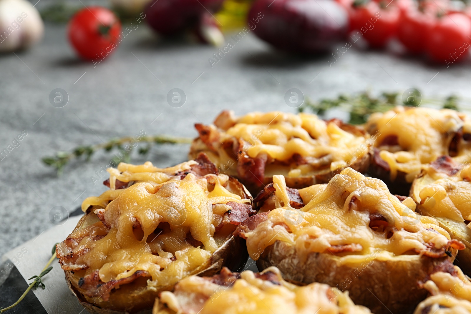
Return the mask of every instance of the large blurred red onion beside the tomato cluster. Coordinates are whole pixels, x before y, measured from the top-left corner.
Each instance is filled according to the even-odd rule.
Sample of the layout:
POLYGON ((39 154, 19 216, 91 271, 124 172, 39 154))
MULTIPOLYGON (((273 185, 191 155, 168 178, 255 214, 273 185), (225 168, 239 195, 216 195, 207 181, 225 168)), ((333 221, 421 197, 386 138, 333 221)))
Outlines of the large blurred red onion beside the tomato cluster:
POLYGON ((328 51, 348 29, 347 12, 332 0, 256 0, 248 21, 260 39, 297 53, 328 51))

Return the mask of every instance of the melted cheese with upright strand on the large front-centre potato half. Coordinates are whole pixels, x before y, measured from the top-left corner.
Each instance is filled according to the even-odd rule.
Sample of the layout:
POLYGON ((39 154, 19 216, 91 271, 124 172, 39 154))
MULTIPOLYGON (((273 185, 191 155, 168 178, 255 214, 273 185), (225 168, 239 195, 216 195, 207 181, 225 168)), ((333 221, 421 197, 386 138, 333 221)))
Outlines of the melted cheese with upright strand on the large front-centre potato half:
POLYGON ((365 257, 401 258, 425 249, 427 243, 440 249, 450 239, 435 219, 414 212, 412 199, 401 203, 381 180, 351 168, 333 177, 324 190, 314 189, 316 195, 301 209, 290 206, 283 176, 274 176, 273 182, 276 209, 255 230, 245 233, 253 259, 259 257, 260 248, 276 241, 295 246, 301 262, 311 252, 328 253, 331 246, 353 244, 360 250, 339 258, 340 263, 349 263, 365 257), (386 218, 390 237, 389 232, 370 228, 370 213, 386 218))

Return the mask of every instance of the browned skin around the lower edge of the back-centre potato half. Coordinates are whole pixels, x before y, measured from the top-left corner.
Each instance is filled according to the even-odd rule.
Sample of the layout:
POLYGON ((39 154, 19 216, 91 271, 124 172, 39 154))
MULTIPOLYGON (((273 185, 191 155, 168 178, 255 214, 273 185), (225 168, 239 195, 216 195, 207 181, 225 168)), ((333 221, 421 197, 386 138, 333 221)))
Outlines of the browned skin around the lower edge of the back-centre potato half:
MULTIPOLYGON (((207 148, 206 145, 201 141, 201 139, 195 138, 193 141, 193 144, 191 145, 190 148, 190 153, 188 154, 188 158, 190 160, 194 159, 195 156, 197 156, 199 153, 205 153, 209 159, 216 164, 216 166, 219 167, 219 163, 217 160, 217 156, 215 156, 214 152, 212 152, 209 148, 207 148)), ((350 168, 364 173, 367 169, 368 166, 370 165, 370 161, 372 159, 372 153, 368 152, 366 153, 361 159, 355 161, 351 165, 349 165, 350 168)), ((219 169, 222 173, 224 173, 224 169, 219 169)), ((338 175, 341 173, 343 169, 337 169, 335 171, 331 171, 330 169, 324 169, 324 170, 319 170, 315 175, 309 176, 309 177, 284 177, 286 181, 286 186, 295 188, 295 189, 302 189, 304 187, 308 187, 311 185, 315 184, 323 184, 323 183, 328 183, 330 179, 332 179, 335 175, 338 175)), ((268 185, 273 182, 273 177, 271 176, 265 176, 263 180, 263 185, 254 185, 251 182, 246 182, 245 180, 237 177, 236 174, 234 175, 235 178, 237 178, 244 186, 249 190, 252 195, 257 195, 265 185, 268 185)))

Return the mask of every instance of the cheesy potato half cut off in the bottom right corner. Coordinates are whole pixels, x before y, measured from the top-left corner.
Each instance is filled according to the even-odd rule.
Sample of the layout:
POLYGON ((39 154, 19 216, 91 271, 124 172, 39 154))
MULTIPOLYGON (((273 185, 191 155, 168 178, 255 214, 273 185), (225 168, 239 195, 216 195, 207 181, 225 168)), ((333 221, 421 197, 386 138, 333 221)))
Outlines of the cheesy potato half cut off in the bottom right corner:
POLYGON ((458 266, 450 263, 430 274, 423 287, 430 297, 417 306, 414 314, 471 314, 471 282, 458 266))

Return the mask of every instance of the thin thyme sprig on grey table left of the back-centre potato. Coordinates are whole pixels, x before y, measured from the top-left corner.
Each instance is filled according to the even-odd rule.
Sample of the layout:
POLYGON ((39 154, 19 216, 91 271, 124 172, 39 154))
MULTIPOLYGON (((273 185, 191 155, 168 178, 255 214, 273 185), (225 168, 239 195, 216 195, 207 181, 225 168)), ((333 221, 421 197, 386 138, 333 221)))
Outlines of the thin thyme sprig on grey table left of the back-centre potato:
POLYGON ((89 161, 94 153, 100 150, 105 152, 111 152, 113 149, 119 151, 125 150, 126 154, 123 154, 123 157, 114 157, 112 160, 115 163, 119 161, 130 161, 130 152, 134 149, 134 146, 131 146, 130 143, 145 143, 144 147, 140 146, 138 153, 145 155, 149 153, 152 145, 161 145, 161 144, 190 144, 192 141, 191 138, 187 137, 169 137, 165 135, 155 135, 155 136, 143 136, 139 140, 135 137, 121 137, 114 138, 108 141, 107 143, 101 143, 96 145, 86 145, 78 146, 73 149, 72 152, 57 152, 55 156, 48 156, 42 158, 42 162, 48 166, 54 167, 57 170, 57 174, 61 175, 64 171, 64 167, 70 161, 75 158, 84 157, 85 161, 89 161))

